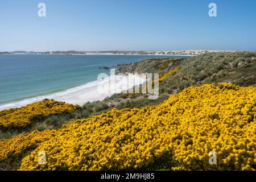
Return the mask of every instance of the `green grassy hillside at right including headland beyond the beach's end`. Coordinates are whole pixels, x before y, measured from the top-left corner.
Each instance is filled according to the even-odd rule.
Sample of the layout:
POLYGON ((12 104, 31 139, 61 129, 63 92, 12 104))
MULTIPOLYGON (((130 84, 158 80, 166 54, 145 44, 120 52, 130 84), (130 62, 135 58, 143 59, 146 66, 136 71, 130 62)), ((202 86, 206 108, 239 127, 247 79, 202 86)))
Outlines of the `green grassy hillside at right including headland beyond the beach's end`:
POLYGON ((138 63, 123 64, 119 67, 119 72, 161 75, 173 69, 180 69, 159 85, 160 94, 177 93, 188 86, 214 82, 233 82, 247 86, 256 85, 255 57, 255 52, 218 52, 187 59, 147 59, 138 63))

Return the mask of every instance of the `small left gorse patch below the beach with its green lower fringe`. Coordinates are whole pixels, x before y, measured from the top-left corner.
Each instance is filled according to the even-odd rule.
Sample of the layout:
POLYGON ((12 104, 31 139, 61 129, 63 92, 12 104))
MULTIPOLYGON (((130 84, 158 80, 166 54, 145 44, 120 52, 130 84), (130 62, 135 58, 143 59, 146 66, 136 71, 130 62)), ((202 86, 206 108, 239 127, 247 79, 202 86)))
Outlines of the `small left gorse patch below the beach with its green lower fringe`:
POLYGON ((79 108, 78 105, 46 99, 20 108, 2 110, 0 111, 0 137, 34 130, 42 121, 49 123, 50 117, 60 118, 60 116, 70 115, 79 108))

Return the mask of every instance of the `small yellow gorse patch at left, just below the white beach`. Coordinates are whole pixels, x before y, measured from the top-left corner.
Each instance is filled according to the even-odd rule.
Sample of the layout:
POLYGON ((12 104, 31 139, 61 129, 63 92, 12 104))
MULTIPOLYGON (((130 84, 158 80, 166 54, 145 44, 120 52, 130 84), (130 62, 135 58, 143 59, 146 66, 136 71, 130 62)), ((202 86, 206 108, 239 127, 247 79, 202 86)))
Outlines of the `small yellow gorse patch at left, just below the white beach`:
POLYGON ((78 108, 77 105, 65 104, 54 100, 43 100, 15 109, 0 111, 0 128, 26 127, 36 117, 48 117, 52 114, 69 113, 78 108))

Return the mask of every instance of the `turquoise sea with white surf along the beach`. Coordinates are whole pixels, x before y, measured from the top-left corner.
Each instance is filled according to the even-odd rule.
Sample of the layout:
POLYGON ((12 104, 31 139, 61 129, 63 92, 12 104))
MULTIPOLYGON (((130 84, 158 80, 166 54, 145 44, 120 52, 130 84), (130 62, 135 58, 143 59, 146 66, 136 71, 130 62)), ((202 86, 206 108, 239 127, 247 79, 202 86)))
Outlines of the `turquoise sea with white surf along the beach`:
MULTIPOLYGON (((72 93, 93 84, 99 69, 163 57, 154 55, 0 55, 0 108, 15 107, 54 94, 72 93), (20 103, 19 103, 20 102, 20 103)), ((164 56, 183 57, 183 56, 164 56)))

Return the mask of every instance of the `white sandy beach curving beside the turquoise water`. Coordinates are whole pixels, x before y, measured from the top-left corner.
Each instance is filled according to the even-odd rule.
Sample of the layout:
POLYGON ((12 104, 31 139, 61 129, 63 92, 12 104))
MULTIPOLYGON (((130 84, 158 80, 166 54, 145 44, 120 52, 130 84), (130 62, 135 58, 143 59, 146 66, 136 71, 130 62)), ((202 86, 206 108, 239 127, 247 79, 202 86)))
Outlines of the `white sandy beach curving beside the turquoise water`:
POLYGON ((121 93, 123 90, 130 89, 134 86, 130 85, 130 82, 133 80, 136 82, 139 81, 139 79, 141 78, 138 75, 131 73, 108 76, 104 78, 104 80, 88 82, 84 85, 75 86, 74 88, 67 89, 62 92, 56 92, 53 94, 3 104, 0 105, 0 111, 26 106, 33 102, 42 101, 46 98, 82 106, 86 102, 102 101, 106 97, 110 97, 115 93, 121 93), (127 81, 129 82, 128 86, 127 81), (112 86, 109 84, 112 84, 112 86))

